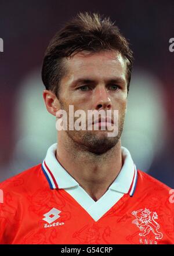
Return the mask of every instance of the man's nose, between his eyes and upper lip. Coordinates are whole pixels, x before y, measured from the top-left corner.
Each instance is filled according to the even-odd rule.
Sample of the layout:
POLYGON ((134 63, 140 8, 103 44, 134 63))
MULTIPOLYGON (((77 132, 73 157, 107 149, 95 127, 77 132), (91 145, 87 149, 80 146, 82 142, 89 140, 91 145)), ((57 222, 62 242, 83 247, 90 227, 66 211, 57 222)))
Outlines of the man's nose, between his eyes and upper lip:
POLYGON ((111 109, 111 99, 108 95, 107 89, 104 86, 95 88, 94 92, 95 109, 111 109))

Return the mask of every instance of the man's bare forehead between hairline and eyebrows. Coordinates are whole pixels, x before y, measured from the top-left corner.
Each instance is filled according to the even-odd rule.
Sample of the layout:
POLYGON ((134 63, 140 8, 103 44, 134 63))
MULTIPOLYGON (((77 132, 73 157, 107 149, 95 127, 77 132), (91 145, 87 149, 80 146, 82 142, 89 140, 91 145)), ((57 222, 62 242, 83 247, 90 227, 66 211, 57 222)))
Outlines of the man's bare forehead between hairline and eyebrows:
POLYGON ((125 79, 126 61, 117 51, 79 52, 66 59, 67 74, 71 79, 100 76, 107 79, 115 74, 125 79))

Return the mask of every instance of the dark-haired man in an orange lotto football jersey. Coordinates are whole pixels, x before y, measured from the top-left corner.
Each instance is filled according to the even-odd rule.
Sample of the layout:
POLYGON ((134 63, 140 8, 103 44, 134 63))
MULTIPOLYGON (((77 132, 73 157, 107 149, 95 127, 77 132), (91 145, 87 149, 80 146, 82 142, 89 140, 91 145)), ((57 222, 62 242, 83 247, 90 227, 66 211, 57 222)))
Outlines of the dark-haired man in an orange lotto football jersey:
POLYGON ((118 27, 97 14, 79 13, 53 37, 42 80, 58 143, 42 164, 1 184, 2 244, 174 243, 169 187, 137 170, 121 147, 132 60, 118 27), (64 129, 63 113, 77 121, 70 106, 86 114, 82 126, 89 110, 118 111, 118 119, 112 113, 90 119, 92 129, 70 129, 71 122, 64 129))

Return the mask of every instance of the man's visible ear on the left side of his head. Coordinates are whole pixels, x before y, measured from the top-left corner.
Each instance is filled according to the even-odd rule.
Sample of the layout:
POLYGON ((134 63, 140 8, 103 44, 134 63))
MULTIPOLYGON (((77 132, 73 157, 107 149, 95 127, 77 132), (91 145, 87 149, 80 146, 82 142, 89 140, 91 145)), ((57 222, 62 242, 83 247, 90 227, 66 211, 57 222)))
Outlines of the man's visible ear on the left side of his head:
POLYGON ((56 116, 56 112, 60 109, 59 99, 57 99, 56 95, 49 90, 43 91, 43 98, 48 112, 56 116))

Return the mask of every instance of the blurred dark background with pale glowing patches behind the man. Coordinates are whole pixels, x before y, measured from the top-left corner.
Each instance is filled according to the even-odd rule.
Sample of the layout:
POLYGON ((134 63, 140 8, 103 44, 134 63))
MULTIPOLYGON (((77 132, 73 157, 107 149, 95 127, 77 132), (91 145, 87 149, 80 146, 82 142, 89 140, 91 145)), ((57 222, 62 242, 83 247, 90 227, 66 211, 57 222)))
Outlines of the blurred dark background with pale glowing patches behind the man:
POLYGON ((45 108, 45 49, 79 11, 110 16, 135 56, 122 145, 138 169, 174 187, 173 1, 0 0, 0 182, 34 166, 56 142, 45 108))

